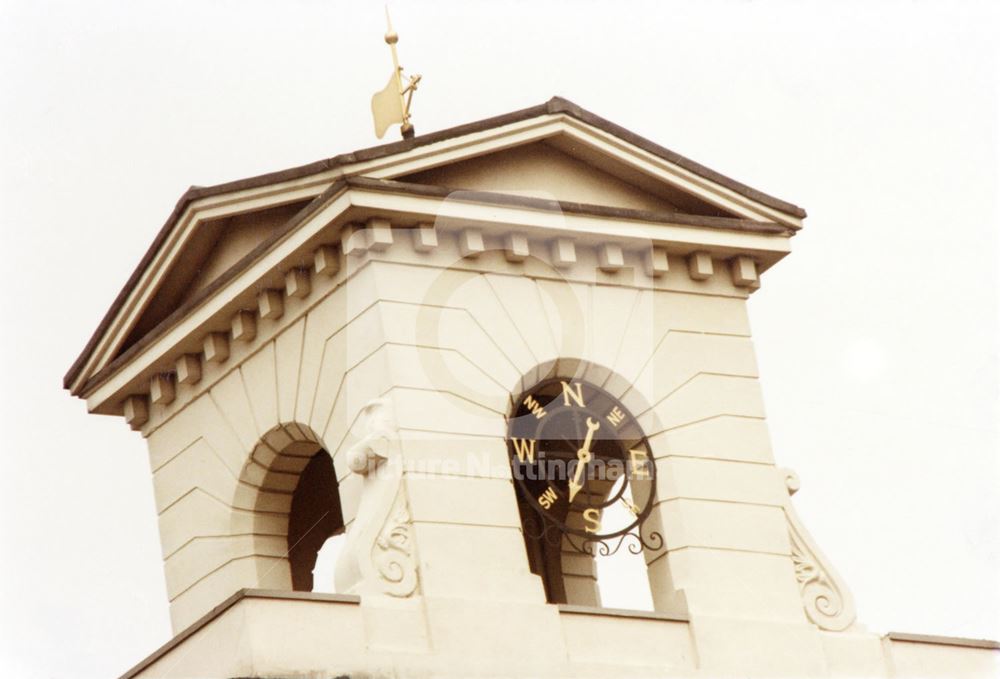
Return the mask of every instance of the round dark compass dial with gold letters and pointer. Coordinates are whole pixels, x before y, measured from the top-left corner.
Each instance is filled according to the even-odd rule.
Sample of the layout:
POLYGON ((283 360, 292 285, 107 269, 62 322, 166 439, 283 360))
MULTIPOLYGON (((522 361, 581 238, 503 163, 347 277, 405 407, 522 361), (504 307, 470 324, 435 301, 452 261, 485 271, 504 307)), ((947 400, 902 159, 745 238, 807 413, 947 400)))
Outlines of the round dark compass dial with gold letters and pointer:
POLYGON ((628 409, 600 387, 553 379, 525 392, 509 420, 507 445, 524 500, 567 533, 588 540, 623 535, 652 509, 649 444, 628 409), (605 512, 612 505, 628 511, 605 512))

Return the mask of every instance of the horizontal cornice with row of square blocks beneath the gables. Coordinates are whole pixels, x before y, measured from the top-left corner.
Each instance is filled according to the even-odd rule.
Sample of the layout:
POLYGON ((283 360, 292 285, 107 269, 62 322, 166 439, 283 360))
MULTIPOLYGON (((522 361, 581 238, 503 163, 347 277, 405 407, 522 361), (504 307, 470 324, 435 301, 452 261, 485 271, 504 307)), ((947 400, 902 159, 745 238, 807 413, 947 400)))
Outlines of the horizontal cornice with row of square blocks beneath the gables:
POLYGON ((586 260, 611 275, 636 268, 649 284, 667 271, 677 275, 680 258, 690 279, 726 269, 744 294, 788 252, 783 227, 744 228, 743 220, 720 224, 718 218, 694 225, 670 215, 591 207, 382 180, 338 182, 88 379, 80 393, 92 411, 122 413, 139 428, 151 403, 171 401, 174 383, 195 382, 206 366, 225 364, 232 348, 250 343, 258 322, 280 315, 288 300, 310 297, 313 287, 328 292, 322 280, 338 284, 344 257, 374 256, 390 246, 428 255, 441 238, 458 239, 469 266, 499 249, 512 266, 529 255, 557 270, 586 260), (581 259, 583 252, 592 254, 581 259))

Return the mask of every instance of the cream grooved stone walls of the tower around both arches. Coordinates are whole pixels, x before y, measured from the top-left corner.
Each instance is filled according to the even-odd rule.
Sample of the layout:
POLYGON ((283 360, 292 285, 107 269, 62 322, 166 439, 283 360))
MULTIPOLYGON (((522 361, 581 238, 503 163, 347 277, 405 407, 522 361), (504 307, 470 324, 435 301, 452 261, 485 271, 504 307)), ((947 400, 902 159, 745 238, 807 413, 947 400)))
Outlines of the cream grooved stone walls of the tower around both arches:
MULTIPOLYGON (((787 556, 746 288, 724 263, 696 281, 684 259, 671 258, 672 270, 653 278, 641 251, 628 253, 631 266, 606 273, 599 249, 586 243, 571 246, 569 261, 563 252, 556 267, 552 242, 526 241, 531 256, 511 262, 489 237, 470 253, 467 232, 437 236, 437 247, 421 252, 412 230, 394 229, 387 247, 355 249, 334 276, 313 272, 306 294, 283 291, 280 317, 266 317, 263 305, 253 310, 251 339, 228 339, 222 359, 196 355, 200 379, 178 383, 171 402, 151 407, 144 433, 177 629, 239 587, 288 587, 290 493, 316 446, 333 455, 350 522, 360 483, 343 451, 363 435, 358 413, 377 397, 391 399, 403 456, 421 469, 406 489, 418 552, 425 565, 436 563, 423 569, 425 590, 455 569, 463 577, 441 576, 442 587, 464 581, 470 595, 492 588, 537 598, 504 418, 512 392, 560 360, 566 376, 583 373, 620 395, 651 438, 662 479, 657 520, 679 550, 652 564, 651 573, 663 573, 653 578, 658 603, 669 608, 681 587, 670 584, 668 562, 683 573, 684 563, 714 559, 718 570, 733 557, 713 547, 743 550, 744 560, 759 555, 762 564, 787 556), (426 473, 435 470, 444 471, 426 473), (733 536, 699 532, 699 521, 719 519, 745 525, 733 536), (733 542, 737 535, 743 543, 733 542), (453 544, 469 545, 468 558, 449 554, 453 544), (493 567, 518 583, 486 577, 493 567)), ((689 605, 700 606, 690 596, 694 576, 683 577, 689 605)), ((733 598, 714 593, 721 582, 706 597, 733 598)))

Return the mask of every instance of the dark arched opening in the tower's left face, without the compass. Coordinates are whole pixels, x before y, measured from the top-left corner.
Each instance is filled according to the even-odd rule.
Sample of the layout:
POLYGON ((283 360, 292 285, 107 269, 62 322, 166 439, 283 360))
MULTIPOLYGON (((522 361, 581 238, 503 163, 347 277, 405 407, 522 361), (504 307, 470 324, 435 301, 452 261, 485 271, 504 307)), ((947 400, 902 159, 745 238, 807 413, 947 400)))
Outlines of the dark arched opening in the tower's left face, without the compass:
MULTIPOLYGON (((316 587, 313 570, 320 550, 331 536, 344 532, 344 515, 337 477, 330 455, 320 449, 299 473, 288 515, 288 565, 292 589, 311 592, 316 587)), ((329 583, 320 589, 329 591, 329 583)))

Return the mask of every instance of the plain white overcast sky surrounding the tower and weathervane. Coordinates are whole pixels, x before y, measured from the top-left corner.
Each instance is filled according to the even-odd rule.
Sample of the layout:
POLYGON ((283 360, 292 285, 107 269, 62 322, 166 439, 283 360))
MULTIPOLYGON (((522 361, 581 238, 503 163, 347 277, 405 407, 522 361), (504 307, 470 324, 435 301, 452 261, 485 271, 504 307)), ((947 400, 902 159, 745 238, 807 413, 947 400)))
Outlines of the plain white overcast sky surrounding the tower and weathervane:
MULTIPOLYGON (((558 94, 807 208, 750 305, 799 513, 870 629, 1000 638, 997 11, 625 7, 394 2, 417 132, 558 94)), ((0 675, 169 638, 145 443, 62 374, 189 184, 376 143, 383 32, 377 2, 0 1, 0 675)))

